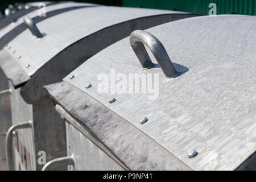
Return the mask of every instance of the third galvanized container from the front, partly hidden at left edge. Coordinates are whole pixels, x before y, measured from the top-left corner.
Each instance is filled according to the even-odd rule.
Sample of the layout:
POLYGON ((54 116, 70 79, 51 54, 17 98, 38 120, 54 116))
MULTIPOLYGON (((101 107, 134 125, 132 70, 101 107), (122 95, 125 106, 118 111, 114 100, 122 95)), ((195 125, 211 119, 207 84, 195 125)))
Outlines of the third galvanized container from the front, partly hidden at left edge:
MULTIPOLYGON (((48 4, 48 3, 47 3, 48 4)), ((81 7, 89 7, 89 6, 97 6, 90 3, 75 3, 75 2, 67 2, 67 3, 56 3, 56 5, 48 6, 47 7, 47 15, 46 16, 39 16, 38 10, 32 11, 31 13, 28 13, 26 16, 31 17, 34 22, 38 23, 41 22, 44 19, 50 18, 51 16, 64 13, 70 10, 79 9, 81 7)), ((23 17, 20 17, 16 20, 14 24, 9 24, 8 26, 2 28, 0 30, 0 47, 3 48, 3 46, 7 43, 9 43, 11 40, 13 40, 16 36, 21 34, 24 30, 27 29, 26 24, 23 23, 23 17)), ((1 71, 0 74, 0 84, 2 85, 0 92, 1 92, 1 101, 2 101, 2 107, 0 108, 0 118, 1 118, 1 133, 2 137, 0 138, 1 142, 1 164, 0 169, 6 168, 6 158, 5 158, 5 134, 7 130, 11 126, 11 117, 10 117, 10 92, 9 92, 9 85, 8 80, 4 73, 1 71), (8 86, 6 86, 8 85, 8 86)), ((21 167, 20 167, 21 168, 21 167)))

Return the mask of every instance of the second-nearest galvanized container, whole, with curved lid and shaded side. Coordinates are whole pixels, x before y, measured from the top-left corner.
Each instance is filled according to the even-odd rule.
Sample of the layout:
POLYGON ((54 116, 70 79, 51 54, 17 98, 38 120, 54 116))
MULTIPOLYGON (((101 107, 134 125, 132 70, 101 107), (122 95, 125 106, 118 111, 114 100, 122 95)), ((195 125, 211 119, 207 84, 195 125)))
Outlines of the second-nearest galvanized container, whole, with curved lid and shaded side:
POLYGON ((32 34, 22 32, 0 51, 0 66, 13 86, 14 126, 6 137, 9 169, 41 169, 38 155, 42 152, 47 161, 67 156, 65 123, 43 85, 61 81, 89 57, 133 30, 192 16, 196 15, 101 6, 61 13, 36 25, 25 19, 32 34), (13 131, 19 147, 11 146, 13 131), (14 159, 11 152, 16 154, 14 159))

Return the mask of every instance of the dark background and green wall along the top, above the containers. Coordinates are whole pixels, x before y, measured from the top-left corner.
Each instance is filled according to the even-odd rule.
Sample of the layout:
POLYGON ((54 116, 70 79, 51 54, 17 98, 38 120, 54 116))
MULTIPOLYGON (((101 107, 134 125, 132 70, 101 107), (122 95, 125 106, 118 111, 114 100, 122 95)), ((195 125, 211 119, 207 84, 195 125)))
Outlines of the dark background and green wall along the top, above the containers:
MULTIPOLYGON (((34 0, 35 1, 35 0, 34 0)), ((2 13, 15 2, 33 2, 30 0, 1 0, 2 13)), ((196 14, 208 14, 209 3, 216 3, 217 14, 256 15, 256 0, 77 0, 108 6, 145 7, 152 9, 186 11, 196 14)))

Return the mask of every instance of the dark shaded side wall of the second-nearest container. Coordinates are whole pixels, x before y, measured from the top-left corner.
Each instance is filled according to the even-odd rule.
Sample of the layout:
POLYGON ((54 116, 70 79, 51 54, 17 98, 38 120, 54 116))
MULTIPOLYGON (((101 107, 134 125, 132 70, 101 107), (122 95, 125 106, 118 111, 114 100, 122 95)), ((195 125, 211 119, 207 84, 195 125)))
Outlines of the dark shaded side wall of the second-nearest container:
MULTIPOLYGON (((65 122, 55 111, 55 106, 49 96, 34 102, 32 106, 36 170, 41 170, 44 165, 38 163, 40 151, 46 153, 46 162, 67 156, 65 122)), ((53 170, 67 170, 67 167, 56 166, 53 170)))

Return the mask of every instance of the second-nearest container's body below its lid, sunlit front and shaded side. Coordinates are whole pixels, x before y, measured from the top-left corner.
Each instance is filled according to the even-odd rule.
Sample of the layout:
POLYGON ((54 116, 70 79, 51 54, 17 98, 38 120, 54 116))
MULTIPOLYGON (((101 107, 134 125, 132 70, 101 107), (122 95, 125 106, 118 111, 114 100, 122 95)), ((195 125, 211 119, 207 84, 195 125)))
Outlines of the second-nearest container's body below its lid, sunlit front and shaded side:
MULTIPOLYGON (((11 85, 12 86, 12 85, 11 85)), ((45 152, 46 161, 66 156, 65 122, 56 113, 51 99, 46 96, 34 103, 27 104, 20 89, 14 89, 11 95, 11 114, 13 125, 32 121, 32 129, 15 132, 14 162, 17 170, 41 170, 43 164, 38 160, 40 151, 45 152)), ((67 167, 56 166, 55 170, 67 167)))

